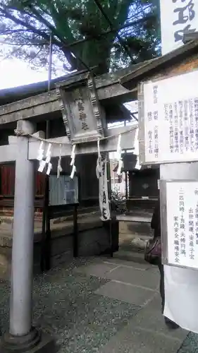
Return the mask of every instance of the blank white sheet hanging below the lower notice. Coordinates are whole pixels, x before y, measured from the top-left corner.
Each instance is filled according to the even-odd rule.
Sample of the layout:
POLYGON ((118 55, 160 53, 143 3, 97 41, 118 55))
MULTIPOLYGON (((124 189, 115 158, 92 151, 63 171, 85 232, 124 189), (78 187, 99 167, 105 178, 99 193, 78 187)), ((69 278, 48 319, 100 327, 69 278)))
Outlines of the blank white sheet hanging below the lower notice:
POLYGON ((164 265, 163 315, 185 330, 198 333, 198 270, 164 265))

